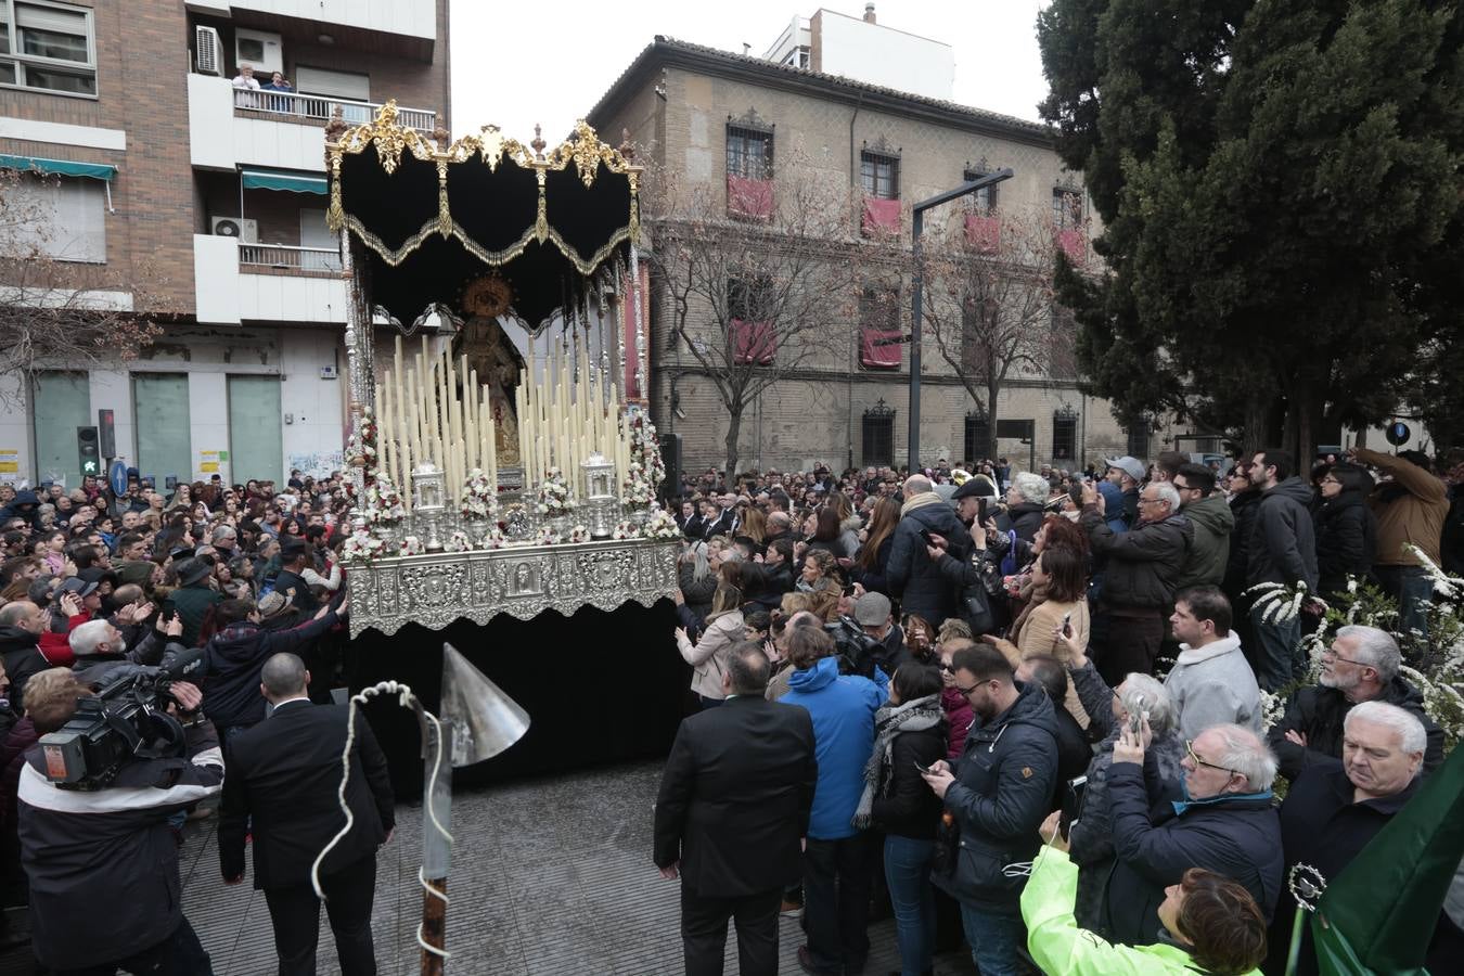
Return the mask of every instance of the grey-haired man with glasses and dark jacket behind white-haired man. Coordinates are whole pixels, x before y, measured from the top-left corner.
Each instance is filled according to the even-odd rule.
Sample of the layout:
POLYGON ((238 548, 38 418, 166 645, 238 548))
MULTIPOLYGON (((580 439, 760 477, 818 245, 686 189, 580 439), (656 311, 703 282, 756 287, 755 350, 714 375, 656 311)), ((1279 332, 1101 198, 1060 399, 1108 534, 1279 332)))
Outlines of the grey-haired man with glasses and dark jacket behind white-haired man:
POLYGON ((1398 673, 1398 644, 1375 626, 1344 626, 1322 653, 1319 683, 1299 689, 1268 733, 1281 776, 1296 780, 1309 765, 1342 758, 1347 713, 1383 701, 1423 723, 1423 771, 1444 762, 1444 732, 1423 711, 1423 695, 1398 673))

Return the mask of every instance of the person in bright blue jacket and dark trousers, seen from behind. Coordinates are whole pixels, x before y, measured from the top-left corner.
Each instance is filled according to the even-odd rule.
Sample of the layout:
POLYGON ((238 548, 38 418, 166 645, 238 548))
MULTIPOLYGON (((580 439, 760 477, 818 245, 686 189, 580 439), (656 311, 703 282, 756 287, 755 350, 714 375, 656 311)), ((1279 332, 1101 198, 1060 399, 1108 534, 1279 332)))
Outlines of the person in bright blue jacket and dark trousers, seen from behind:
POLYGON ((874 680, 840 675, 833 638, 817 628, 795 629, 788 656, 796 670, 779 701, 808 710, 818 761, 804 849, 808 944, 798 948, 798 964, 808 973, 858 973, 870 954, 874 841, 854 827, 854 814, 874 751, 874 713, 890 697, 889 679, 878 667, 874 680))

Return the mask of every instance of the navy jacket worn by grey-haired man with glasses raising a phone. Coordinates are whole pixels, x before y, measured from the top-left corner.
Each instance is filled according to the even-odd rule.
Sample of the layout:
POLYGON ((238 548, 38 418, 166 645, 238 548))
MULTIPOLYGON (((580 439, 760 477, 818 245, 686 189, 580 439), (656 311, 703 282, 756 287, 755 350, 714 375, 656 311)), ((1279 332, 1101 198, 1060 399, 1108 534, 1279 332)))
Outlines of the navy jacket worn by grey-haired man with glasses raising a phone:
POLYGON ((1108 805, 1117 859, 1104 904, 1104 938, 1148 945, 1159 938, 1164 888, 1190 868, 1205 868, 1246 885, 1271 920, 1285 868, 1281 821, 1268 790, 1200 800, 1155 825, 1143 770, 1135 762, 1108 768, 1108 805))

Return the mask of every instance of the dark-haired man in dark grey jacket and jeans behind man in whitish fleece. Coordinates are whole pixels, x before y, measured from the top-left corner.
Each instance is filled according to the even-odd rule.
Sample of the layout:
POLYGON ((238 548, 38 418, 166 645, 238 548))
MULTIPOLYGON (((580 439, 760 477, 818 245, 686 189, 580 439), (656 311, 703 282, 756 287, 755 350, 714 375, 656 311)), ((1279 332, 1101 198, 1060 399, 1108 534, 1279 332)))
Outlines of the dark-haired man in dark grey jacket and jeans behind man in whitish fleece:
MULTIPOLYGON (((1306 584, 1316 593, 1316 533, 1312 527, 1312 489, 1294 474, 1296 461, 1278 448, 1256 451, 1250 459, 1250 483, 1263 495, 1250 528, 1250 566, 1246 585, 1280 582, 1294 587, 1306 584)), ((1250 607, 1250 622, 1256 628, 1261 686, 1277 691, 1306 673, 1301 656, 1301 622, 1262 620, 1263 607, 1250 607)))

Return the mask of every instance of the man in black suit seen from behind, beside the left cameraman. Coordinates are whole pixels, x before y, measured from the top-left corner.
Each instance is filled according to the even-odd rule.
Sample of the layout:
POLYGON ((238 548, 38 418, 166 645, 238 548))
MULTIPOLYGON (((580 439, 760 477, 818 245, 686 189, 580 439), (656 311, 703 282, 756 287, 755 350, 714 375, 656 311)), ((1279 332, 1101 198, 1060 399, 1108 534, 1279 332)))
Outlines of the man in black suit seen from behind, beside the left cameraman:
MULTIPOLYGON (((281 976, 315 975, 321 903, 310 868, 346 825, 337 792, 348 707, 312 704, 305 694, 309 680, 294 654, 265 661, 259 689, 274 714, 230 740, 218 821, 225 884, 243 881, 244 833, 253 833, 255 887, 269 906, 281 976)), ((343 976, 370 976, 376 849, 391 840, 395 814, 386 757, 365 718, 356 721, 346 802, 351 830, 321 865, 321 888, 343 976)))

